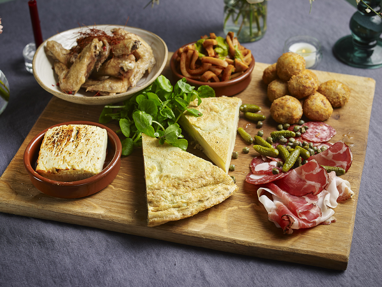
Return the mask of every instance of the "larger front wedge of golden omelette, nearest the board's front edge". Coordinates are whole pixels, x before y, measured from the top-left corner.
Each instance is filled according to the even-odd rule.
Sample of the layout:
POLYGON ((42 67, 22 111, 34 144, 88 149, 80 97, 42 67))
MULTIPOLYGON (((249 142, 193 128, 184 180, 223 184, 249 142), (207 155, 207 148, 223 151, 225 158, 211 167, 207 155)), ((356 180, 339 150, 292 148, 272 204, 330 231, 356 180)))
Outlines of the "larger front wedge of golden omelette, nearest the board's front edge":
POLYGON ((230 197, 238 187, 221 168, 142 134, 147 226, 193 216, 230 197))

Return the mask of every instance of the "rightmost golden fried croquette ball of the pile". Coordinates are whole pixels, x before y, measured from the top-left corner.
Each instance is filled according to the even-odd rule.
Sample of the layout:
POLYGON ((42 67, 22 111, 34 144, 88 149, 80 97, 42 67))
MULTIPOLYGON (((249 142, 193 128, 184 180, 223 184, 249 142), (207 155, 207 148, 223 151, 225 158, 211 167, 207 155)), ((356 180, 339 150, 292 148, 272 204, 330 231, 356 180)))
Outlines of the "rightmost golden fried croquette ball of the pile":
POLYGON ((329 100, 333 108, 342 107, 350 97, 350 88, 336 80, 322 83, 318 87, 318 91, 329 100))

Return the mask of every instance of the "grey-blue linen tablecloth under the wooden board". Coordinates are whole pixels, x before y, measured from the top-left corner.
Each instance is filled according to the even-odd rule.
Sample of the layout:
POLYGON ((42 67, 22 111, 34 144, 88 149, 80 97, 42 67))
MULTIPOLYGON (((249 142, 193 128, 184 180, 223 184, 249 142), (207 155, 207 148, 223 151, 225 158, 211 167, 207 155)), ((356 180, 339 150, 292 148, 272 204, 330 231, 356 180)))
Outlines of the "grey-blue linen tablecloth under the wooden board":
MULTIPOLYGON (((44 38, 86 24, 125 24, 152 31, 169 51, 215 31, 222 34, 223 0, 38 0, 44 38)), ((355 0, 354 0, 355 1, 355 0)), ((268 2, 268 30, 246 44, 257 62, 274 63, 290 36, 308 34, 324 48, 318 70, 374 78, 366 160, 346 271, 214 251, 50 220, 0 213, 0 286, 381 286, 382 69, 363 70, 332 55, 350 34, 355 8, 345 0, 268 2)), ((0 115, 0 174, 52 95, 24 69, 21 51, 33 34, 27 1, 0 4, 0 69, 11 98, 0 115)))

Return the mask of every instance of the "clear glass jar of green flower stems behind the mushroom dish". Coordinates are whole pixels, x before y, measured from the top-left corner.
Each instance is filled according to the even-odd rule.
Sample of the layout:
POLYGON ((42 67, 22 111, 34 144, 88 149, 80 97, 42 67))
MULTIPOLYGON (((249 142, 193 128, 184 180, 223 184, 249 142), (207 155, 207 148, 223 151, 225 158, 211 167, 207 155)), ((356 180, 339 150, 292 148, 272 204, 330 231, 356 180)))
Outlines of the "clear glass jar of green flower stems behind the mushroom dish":
POLYGON ((223 31, 234 32, 239 42, 254 42, 267 31, 267 1, 224 0, 223 31))

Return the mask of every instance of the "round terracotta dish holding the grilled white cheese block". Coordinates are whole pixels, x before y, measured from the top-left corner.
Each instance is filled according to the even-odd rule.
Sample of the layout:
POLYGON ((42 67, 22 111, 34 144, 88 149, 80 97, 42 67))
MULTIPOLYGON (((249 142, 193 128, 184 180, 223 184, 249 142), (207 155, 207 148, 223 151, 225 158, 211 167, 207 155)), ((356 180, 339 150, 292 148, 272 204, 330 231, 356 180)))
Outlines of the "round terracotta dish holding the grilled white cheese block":
POLYGON ((37 166, 37 158, 39 156, 40 146, 42 140, 44 139, 45 132, 48 129, 40 132, 31 140, 31 142, 29 142, 24 152, 24 167, 28 171, 32 184, 37 189, 39 189, 39 191, 42 191, 45 194, 53 197, 79 198, 94 194, 101 189, 104 189, 113 181, 113 179, 117 176, 121 166, 122 145, 115 132, 113 132, 108 127, 105 127, 102 124, 98 124, 96 122, 63 122, 61 124, 51 126, 50 128, 68 124, 86 124, 98 126, 107 130, 107 154, 104 163, 104 169, 99 174, 78 181, 64 182, 47 179, 36 173, 35 169, 37 166))

